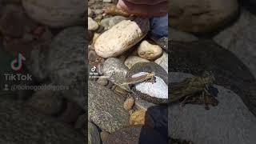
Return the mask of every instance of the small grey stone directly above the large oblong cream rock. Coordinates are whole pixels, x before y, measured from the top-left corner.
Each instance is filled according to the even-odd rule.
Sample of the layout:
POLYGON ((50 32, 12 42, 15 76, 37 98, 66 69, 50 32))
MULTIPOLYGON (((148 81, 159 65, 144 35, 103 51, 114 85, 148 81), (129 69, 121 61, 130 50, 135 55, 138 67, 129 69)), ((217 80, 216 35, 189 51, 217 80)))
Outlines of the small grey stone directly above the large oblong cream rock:
POLYGON ((121 22, 123 20, 126 20, 126 17, 122 16, 114 16, 111 18, 104 18, 101 21, 101 26, 104 27, 104 30, 110 30, 111 27, 118 24, 118 22, 121 22))

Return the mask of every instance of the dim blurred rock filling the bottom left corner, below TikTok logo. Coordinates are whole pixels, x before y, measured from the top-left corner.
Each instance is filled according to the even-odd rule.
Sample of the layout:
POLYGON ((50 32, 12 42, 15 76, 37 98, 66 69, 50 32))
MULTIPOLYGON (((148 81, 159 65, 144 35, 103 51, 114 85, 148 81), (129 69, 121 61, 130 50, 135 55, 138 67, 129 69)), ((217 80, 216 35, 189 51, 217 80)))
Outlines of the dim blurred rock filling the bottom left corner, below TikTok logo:
POLYGON ((0 100, 0 116, 0 143, 85 143, 73 127, 8 98, 0 100))

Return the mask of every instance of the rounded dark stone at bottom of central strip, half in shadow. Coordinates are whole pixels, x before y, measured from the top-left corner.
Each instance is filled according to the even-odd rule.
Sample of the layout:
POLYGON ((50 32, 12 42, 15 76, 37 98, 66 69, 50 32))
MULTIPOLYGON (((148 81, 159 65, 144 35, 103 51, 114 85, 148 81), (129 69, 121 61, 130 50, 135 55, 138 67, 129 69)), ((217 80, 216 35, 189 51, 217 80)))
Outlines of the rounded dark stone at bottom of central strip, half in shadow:
POLYGON ((167 138, 148 126, 129 126, 110 134, 106 144, 156 144, 168 143, 167 138))

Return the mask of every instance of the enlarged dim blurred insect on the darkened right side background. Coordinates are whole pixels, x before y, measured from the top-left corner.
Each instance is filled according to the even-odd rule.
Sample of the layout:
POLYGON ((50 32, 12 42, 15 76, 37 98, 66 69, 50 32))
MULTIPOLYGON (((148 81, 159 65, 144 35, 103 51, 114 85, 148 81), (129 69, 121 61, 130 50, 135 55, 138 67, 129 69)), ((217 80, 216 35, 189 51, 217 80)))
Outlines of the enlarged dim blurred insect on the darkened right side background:
POLYGON ((182 82, 171 83, 169 102, 182 101, 182 106, 187 103, 205 104, 206 110, 209 110, 209 104, 218 105, 218 100, 210 92, 214 80, 214 76, 207 76, 186 78, 182 82))

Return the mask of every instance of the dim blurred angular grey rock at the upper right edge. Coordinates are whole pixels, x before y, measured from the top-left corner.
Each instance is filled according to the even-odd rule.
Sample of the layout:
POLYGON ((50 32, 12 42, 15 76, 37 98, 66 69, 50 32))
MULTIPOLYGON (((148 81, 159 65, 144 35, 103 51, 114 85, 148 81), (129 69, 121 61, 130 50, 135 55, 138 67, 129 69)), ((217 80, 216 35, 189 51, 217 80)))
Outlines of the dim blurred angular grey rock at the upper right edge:
POLYGON ((256 17, 242 9, 238 21, 216 35, 214 41, 240 58, 256 78, 256 43, 251 39, 255 35, 256 17))

